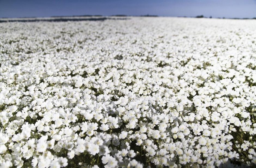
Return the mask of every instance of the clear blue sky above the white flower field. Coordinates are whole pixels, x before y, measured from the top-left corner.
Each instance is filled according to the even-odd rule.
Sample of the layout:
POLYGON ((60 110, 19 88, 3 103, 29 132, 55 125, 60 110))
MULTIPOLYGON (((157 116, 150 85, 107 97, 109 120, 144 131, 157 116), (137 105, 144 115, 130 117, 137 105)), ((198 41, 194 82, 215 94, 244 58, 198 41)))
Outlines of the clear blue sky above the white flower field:
POLYGON ((0 17, 116 14, 252 18, 256 0, 0 0, 0 17))

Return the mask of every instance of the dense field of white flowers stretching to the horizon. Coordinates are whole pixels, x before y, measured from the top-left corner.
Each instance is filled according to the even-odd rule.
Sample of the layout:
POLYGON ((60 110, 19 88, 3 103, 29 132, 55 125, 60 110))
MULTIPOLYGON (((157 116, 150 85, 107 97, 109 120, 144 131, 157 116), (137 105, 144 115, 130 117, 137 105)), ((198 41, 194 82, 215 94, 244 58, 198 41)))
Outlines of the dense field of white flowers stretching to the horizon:
POLYGON ((0 23, 0 167, 255 167, 256 21, 0 23))

